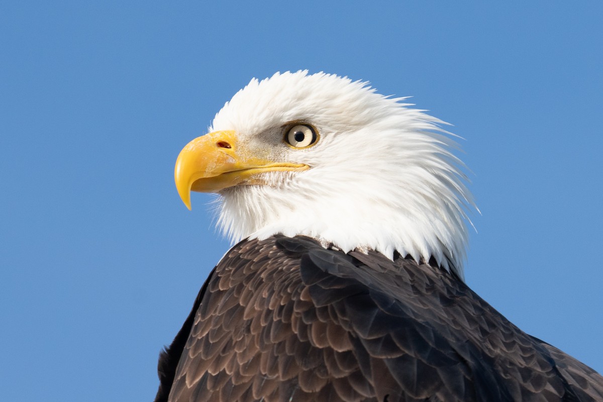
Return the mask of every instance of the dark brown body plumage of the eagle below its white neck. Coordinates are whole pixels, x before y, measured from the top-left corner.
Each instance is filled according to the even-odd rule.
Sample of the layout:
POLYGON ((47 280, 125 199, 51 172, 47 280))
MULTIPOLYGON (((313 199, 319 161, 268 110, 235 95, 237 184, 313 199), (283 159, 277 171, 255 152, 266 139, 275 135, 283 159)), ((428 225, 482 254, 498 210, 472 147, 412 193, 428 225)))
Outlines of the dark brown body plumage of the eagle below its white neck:
POLYGON ((603 401, 601 375, 433 261, 301 236, 233 247, 159 373, 156 402, 603 401))

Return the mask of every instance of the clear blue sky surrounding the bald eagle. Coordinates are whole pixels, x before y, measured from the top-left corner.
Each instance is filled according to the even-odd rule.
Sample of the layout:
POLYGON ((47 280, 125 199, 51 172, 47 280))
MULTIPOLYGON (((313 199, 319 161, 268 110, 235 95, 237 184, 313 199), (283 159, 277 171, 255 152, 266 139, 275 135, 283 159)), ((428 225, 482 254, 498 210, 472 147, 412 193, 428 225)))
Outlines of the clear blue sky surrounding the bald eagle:
POLYGON ((454 124, 482 211, 467 283, 603 371, 602 3, 374 4, 0 5, 5 400, 152 400, 229 247, 176 156, 250 78, 298 69, 454 124))

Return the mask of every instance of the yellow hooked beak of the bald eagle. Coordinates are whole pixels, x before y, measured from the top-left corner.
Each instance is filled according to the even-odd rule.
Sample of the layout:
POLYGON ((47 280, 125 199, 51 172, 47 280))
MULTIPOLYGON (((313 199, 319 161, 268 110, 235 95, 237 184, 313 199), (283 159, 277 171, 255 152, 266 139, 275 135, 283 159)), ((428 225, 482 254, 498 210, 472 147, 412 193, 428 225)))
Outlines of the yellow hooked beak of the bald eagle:
POLYGON ((191 190, 211 193, 237 184, 259 184, 265 172, 305 171, 303 163, 274 162, 239 149, 235 131, 215 131, 195 138, 180 151, 176 160, 176 189, 188 209, 191 190))

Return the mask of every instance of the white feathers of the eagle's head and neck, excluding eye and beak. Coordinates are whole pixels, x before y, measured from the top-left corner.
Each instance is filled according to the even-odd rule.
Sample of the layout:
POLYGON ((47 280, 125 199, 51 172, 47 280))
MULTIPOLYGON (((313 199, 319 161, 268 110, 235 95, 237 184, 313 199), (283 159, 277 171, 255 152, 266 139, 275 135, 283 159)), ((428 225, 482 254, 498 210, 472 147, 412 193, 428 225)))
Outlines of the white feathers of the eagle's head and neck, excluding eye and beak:
POLYGON ((307 71, 256 79, 216 114, 211 131, 235 130, 241 142, 270 148, 274 159, 305 163, 302 172, 270 172, 266 184, 221 192, 219 225, 233 241, 303 234, 347 252, 394 251, 433 257, 463 278, 467 190, 458 148, 439 124, 404 98, 366 83, 307 71), (282 127, 314 125, 316 145, 293 149, 282 127))

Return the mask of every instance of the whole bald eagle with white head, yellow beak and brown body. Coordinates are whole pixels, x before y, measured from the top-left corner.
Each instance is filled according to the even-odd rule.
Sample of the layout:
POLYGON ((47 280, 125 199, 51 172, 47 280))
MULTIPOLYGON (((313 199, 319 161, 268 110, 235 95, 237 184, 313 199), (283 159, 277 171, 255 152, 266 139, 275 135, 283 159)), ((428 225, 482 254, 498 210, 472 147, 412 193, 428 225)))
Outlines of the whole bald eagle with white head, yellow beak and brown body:
POLYGON ((252 80, 178 156, 238 241, 156 401, 603 401, 603 377, 463 280, 475 208, 443 122, 359 81, 252 80))

